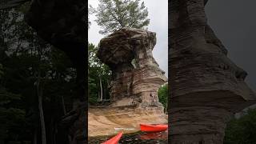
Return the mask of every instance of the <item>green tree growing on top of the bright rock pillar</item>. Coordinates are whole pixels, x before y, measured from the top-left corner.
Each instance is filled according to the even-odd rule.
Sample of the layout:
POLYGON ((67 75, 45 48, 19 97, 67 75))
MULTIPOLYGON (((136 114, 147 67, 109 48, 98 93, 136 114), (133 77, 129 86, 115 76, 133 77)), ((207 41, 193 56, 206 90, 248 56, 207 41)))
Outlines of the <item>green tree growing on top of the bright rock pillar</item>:
POLYGON ((140 0, 99 0, 95 10, 100 34, 108 34, 123 27, 146 29, 150 19, 144 2, 140 0))

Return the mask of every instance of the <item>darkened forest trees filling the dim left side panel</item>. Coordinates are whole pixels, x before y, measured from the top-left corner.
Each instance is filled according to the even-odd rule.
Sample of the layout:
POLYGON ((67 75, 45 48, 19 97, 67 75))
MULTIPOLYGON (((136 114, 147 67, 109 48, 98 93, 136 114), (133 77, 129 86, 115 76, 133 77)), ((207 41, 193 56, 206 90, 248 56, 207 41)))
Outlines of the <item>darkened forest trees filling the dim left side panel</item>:
POLYGON ((0 143, 68 142, 58 124, 74 95, 69 58, 38 38, 18 9, 0 10, 0 29, 0 143))

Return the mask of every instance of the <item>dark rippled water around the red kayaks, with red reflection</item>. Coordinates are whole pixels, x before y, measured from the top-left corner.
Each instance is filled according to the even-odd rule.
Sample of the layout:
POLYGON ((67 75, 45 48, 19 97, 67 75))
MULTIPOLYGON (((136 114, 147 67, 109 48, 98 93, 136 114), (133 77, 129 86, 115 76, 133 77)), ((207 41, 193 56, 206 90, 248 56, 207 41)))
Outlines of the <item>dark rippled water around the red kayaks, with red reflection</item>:
MULTIPOLYGON (((90 138, 90 144, 98 144, 105 142, 111 137, 98 137, 98 138, 90 138)), ((168 134, 167 131, 158 132, 158 133, 145 133, 138 132, 134 134, 123 134, 119 143, 123 144, 139 144, 139 143, 148 143, 148 144, 167 144, 168 134)))

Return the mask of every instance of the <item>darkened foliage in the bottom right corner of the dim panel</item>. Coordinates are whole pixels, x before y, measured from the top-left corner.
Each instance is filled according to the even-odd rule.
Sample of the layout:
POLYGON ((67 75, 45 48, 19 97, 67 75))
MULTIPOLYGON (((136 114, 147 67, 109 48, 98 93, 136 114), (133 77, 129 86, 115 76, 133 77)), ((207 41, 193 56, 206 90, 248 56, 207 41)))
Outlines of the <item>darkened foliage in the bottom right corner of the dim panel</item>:
POLYGON ((224 144, 254 144, 256 142, 256 109, 241 118, 233 118, 226 126, 224 144))

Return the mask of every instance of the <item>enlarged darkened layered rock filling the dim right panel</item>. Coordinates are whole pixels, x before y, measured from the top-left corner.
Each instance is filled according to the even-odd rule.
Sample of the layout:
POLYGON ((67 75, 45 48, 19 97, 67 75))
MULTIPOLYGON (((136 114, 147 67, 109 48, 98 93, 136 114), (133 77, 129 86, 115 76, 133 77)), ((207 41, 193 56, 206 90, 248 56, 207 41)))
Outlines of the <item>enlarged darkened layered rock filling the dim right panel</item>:
POLYGON ((207 25, 204 0, 169 3, 169 141, 172 144, 223 142, 231 114, 255 103, 246 71, 207 25))

